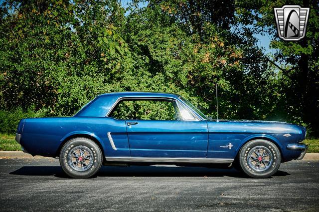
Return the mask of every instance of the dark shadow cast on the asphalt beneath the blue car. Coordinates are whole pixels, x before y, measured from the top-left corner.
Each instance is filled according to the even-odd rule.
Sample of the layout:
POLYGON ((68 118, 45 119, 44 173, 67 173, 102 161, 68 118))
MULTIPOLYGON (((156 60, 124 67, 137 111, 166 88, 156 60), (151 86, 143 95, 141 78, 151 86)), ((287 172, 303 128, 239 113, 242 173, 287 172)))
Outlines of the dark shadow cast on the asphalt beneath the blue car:
MULTIPOLYGON (((54 176, 70 178, 60 166, 24 166, 10 175, 24 176, 54 176)), ((288 176, 284 171, 278 171, 274 176, 288 176)), ((176 166, 130 166, 130 167, 101 167, 97 177, 235 177, 249 178, 235 169, 215 169, 203 167, 176 166)))

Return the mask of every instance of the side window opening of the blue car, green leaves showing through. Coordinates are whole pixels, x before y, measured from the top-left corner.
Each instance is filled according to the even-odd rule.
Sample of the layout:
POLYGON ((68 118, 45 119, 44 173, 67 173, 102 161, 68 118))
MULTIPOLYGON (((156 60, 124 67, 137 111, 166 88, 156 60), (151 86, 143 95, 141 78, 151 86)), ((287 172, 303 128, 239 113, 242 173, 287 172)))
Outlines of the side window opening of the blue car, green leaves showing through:
POLYGON ((123 120, 177 120, 176 104, 169 100, 122 100, 110 117, 123 120))

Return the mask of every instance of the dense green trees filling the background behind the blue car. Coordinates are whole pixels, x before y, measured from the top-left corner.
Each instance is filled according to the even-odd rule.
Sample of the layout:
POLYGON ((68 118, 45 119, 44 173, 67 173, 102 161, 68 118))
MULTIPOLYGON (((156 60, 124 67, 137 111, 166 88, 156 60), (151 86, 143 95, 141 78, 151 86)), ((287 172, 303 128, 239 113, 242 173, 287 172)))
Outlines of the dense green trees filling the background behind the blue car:
POLYGON ((216 117, 218 83, 219 117, 294 122, 319 135, 318 4, 293 2, 311 7, 298 42, 276 35, 273 6, 284 4, 4 0, 1 113, 72 115, 99 93, 163 91, 216 117), (270 34, 276 54, 266 55, 253 32, 270 34))

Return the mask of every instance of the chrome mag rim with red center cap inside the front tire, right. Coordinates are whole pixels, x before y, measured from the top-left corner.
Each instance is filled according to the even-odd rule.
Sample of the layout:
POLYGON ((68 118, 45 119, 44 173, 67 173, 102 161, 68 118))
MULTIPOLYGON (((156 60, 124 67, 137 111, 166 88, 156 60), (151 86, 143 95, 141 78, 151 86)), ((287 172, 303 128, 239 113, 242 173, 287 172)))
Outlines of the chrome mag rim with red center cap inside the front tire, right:
POLYGON ((273 163, 273 154, 265 146, 253 147, 247 154, 247 162, 256 172, 268 170, 273 163))

